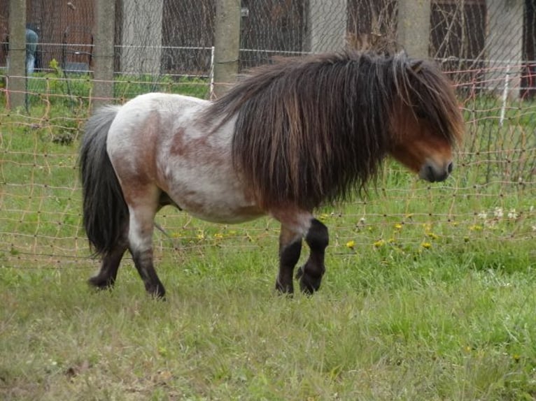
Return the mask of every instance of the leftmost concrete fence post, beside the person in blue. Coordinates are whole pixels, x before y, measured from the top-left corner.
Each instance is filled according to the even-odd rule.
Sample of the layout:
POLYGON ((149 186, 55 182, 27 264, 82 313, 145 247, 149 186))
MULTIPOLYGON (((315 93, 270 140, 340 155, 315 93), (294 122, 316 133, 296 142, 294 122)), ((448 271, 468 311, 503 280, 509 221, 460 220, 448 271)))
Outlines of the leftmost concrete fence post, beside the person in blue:
POLYGON ((26 0, 9 1, 8 105, 24 107, 26 99, 26 0))

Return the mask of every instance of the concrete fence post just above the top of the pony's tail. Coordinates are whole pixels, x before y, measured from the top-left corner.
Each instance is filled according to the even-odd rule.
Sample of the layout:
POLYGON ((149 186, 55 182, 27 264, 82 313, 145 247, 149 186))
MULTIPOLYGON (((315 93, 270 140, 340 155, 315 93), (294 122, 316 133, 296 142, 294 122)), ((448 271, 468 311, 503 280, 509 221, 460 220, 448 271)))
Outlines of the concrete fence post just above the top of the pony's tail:
POLYGON ((96 1, 94 38, 93 105, 108 103, 113 98, 113 45, 115 34, 115 1, 96 1))

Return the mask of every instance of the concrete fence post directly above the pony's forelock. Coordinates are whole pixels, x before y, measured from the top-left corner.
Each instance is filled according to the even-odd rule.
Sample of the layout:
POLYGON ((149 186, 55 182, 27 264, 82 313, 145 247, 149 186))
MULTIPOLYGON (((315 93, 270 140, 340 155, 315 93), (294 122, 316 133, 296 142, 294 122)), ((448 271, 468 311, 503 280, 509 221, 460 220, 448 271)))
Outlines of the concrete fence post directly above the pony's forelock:
POLYGON ((428 59, 431 0, 399 0, 397 41, 409 57, 428 59))

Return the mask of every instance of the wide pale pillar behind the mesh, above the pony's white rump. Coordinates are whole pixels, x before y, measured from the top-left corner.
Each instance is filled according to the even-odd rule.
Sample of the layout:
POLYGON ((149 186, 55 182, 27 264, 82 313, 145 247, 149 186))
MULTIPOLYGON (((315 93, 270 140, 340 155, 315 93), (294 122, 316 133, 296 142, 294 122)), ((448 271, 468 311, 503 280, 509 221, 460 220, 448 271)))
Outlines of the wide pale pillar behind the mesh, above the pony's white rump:
POLYGON ((123 73, 160 75, 163 0, 122 1, 123 73))

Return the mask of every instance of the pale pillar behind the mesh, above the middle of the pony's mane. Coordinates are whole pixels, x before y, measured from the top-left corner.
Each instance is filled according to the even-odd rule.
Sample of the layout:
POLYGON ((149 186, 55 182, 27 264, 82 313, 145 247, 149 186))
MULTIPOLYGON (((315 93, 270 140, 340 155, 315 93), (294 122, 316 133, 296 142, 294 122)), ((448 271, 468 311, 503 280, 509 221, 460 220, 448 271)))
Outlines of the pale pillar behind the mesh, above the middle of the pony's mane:
POLYGON ((336 52, 346 46, 346 0, 309 0, 304 50, 336 52))

